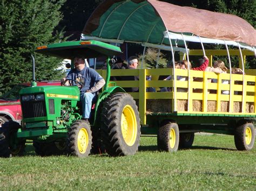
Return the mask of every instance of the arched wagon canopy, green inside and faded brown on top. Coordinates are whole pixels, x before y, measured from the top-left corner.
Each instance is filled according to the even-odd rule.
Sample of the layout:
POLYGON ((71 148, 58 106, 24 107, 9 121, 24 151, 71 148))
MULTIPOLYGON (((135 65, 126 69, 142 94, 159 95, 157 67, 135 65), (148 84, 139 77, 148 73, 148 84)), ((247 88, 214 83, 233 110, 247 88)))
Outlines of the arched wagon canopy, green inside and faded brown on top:
MULTIPOLYGON (((155 0, 106 0, 87 20, 82 36, 161 44, 165 31, 256 46, 255 29, 240 17, 155 0)), ((163 44, 170 45, 169 39, 163 44)))

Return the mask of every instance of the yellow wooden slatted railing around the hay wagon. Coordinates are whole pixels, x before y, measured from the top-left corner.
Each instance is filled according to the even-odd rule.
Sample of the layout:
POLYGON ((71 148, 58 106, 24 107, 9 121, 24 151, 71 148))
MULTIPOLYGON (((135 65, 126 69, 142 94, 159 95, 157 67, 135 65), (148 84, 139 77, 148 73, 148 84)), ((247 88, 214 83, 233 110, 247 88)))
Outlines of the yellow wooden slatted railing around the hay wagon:
MULTIPOLYGON (((103 77, 106 76, 105 70, 98 70, 98 72, 103 77)), ((233 80, 230 86, 230 84, 222 83, 223 80, 230 81, 230 74, 190 70, 190 98, 188 98, 188 81, 176 81, 177 90, 183 88, 187 89, 187 91, 179 92, 178 90, 176 96, 174 96, 174 80, 158 80, 159 76, 170 74, 173 74, 173 69, 111 70, 111 76, 139 76, 139 81, 116 81, 116 84, 123 88, 139 87, 139 92, 129 94, 137 101, 142 124, 146 124, 146 115, 156 113, 256 115, 255 75, 245 75, 245 87, 244 91, 242 91, 242 75, 240 74, 232 74, 233 80), (151 81, 146 80, 147 75, 152 76, 151 81), (217 83, 211 82, 211 79, 216 79, 217 83), (160 87, 168 87, 170 91, 146 92, 146 88, 149 87, 154 87, 158 90, 160 87), (230 87, 232 91, 228 92, 228 94, 223 94, 223 91, 230 91, 230 87), (190 108, 186 108, 188 102, 190 102, 188 104, 190 108), (152 105, 156 106, 153 110, 152 105), (174 105, 178 105, 177 108, 174 108, 174 105)), ((177 76, 187 77, 188 70, 176 69, 177 76)))

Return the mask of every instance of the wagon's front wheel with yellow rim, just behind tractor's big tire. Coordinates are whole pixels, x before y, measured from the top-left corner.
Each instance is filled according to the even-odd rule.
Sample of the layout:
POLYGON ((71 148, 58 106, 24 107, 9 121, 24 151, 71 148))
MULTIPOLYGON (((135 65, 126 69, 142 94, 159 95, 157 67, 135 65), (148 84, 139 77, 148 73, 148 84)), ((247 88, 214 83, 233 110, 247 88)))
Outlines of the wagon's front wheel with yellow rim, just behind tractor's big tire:
POLYGON ((179 147, 179 128, 177 123, 164 122, 157 135, 157 146, 159 151, 173 152, 179 147))

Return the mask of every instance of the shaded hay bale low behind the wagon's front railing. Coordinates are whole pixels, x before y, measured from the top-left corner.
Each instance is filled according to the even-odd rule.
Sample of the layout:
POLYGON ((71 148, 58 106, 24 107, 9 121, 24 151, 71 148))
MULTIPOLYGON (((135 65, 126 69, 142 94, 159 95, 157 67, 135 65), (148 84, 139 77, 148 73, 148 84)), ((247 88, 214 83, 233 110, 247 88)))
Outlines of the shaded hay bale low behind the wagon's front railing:
POLYGON ((146 100, 146 112, 172 112, 172 100, 146 100))

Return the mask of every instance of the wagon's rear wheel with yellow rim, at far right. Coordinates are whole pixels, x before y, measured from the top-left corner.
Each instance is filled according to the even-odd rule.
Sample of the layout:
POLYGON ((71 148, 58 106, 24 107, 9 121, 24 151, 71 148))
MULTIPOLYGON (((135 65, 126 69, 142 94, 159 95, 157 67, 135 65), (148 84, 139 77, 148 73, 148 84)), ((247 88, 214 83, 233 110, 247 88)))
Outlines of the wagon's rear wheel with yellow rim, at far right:
POLYGON ((239 151, 250 151, 255 140, 255 130, 252 123, 240 123, 235 129, 234 142, 239 151))

